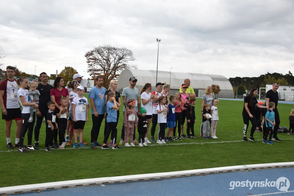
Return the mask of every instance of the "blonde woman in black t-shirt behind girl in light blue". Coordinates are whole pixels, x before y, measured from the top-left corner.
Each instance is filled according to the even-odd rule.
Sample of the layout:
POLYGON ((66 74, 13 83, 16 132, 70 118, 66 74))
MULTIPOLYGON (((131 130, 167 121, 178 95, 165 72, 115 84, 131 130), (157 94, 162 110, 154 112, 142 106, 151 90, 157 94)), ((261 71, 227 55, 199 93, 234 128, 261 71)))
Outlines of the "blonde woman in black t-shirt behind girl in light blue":
MULTIPOLYGON (((109 88, 108 90, 105 92, 105 100, 106 100, 106 103, 105 103, 105 115, 104 115, 104 118, 105 118, 105 125, 104 125, 104 136, 107 132, 107 120, 106 120, 106 116, 107 116, 107 111, 106 111, 106 104, 107 104, 107 95, 108 93, 112 92, 112 93, 115 93, 115 100, 117 103, 119 103, 119 106, 117 107, 117 110, 116 110, 116 114, 117 114, 117 118, 116 118, 116 125, 118 123, 118 119, 119 119, 119 108, 120 108, 120 105, 121 105, 121 95, 116 91, 116 88, 117 88, 117 81, 116 80, 111 80, 109 82, 109 88)), ((117 132, 117 130, 116 130, 117 132)), ((113 146, 113 132, 111 131, 111 138, 110 138, 110 145, 113 146)), ((106 143, 106 145, 108 145, 108 142, 106 143)))

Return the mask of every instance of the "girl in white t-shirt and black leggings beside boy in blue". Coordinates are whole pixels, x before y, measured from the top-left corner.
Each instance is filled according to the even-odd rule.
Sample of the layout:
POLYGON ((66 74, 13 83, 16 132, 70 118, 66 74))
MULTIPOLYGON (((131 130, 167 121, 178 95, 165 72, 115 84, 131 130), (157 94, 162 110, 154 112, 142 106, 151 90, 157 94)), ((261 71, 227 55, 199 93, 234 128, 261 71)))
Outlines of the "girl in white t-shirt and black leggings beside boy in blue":
POLYGON ((164 141, 165 129, 166 129, 166 114, 168 113, 168 107, 165 105, 166 97, 162 96, 158 100, 157 110, 157 123, 159 124, 157 142, 158 144, 166 144, 164 141))

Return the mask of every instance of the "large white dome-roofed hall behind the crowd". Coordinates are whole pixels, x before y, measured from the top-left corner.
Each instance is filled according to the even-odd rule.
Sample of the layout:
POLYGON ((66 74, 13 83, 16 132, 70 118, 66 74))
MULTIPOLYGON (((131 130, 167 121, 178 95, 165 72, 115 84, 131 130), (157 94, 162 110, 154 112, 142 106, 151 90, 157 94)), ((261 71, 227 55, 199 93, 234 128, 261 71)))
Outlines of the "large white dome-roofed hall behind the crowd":
MULTIPOLYGON (((191 81, 191 87, 194 89, 196 97, 204 95, 205 88, 213 84, 220 87, 219 98, 234 98, 234 92, 230 81, 220 75, 202 74, 202 73, 179 73, 169 71, 158 71, 157 81, 169 83, 171 76, 171 91, 170 95, 175 95, 179 88, 184 83, 186 78, 191 81)), ((119 75, 117 82, 117 91, 129 86, 129 79, 135 77, 138 82, 136 88, 141 89, 145 83, 151 83, 152 91, 155 91, 156 84, 156 70, 142 70, 142 69, 124 69, 119 75)), ((121 91, 120 91, 121 93, 121 91)))

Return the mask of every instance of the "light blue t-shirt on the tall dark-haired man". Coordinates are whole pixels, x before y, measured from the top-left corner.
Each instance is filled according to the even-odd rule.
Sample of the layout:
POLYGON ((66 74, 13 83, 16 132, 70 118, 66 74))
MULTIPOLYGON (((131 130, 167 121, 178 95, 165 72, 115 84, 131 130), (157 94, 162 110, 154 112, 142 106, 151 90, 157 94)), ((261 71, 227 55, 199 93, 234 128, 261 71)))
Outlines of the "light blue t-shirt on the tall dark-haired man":
MULTIPOLYGON (((89 92, 89 99, 94 99, 95 108, 99 115, 105 114, 105 92, 106 88, 99 89, 97 86, 94 86, 89 92)), ((93 105, 91 110, 94 114, 93 105)))

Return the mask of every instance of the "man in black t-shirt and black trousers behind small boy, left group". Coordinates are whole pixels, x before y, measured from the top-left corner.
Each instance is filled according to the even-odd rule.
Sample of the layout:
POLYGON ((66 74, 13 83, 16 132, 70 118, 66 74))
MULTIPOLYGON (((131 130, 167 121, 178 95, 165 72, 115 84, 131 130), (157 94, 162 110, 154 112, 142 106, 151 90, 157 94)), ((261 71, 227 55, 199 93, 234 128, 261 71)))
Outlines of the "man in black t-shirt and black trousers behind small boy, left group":
MULTIPOLYGON (((41 112, 41 115, 36 118, 36 125, 35 125, 35 147, 39 147, 39 134, 40 134, 40 128, 42 125, 43 118, 45 117, 45 121, 47 120, 46 113, 48 111, 47 103, 48 101, 51 101, 50 97, 50 91, 53 88, 50 84, 48 84, 48 76, 47 73, 42 72, 40 73, 40 80, 41 83, 39 83, 38 87, 36 88, 40 92, 39 96, 39 110, 41 112)), ((47 121, 46 121, 46 127, 47 127, 47 121)))

